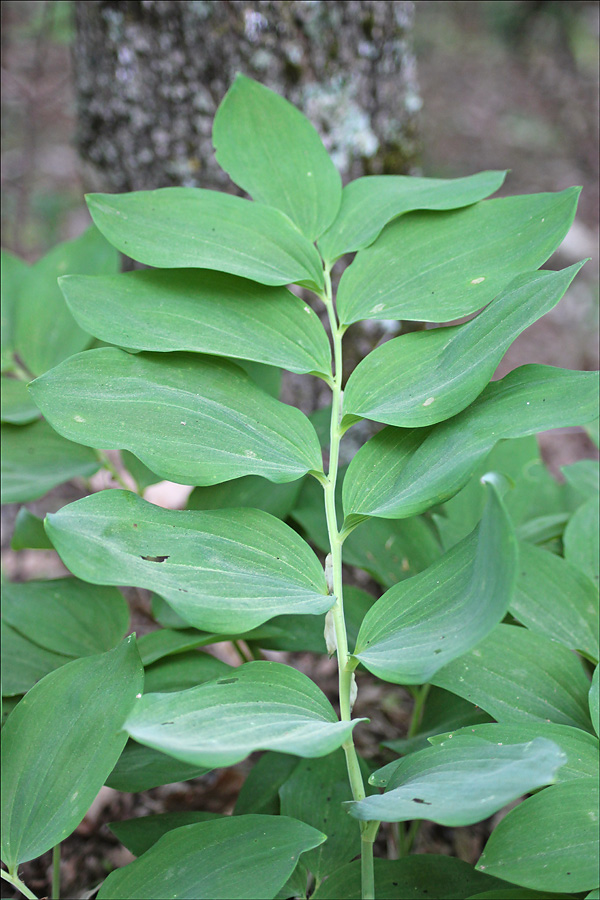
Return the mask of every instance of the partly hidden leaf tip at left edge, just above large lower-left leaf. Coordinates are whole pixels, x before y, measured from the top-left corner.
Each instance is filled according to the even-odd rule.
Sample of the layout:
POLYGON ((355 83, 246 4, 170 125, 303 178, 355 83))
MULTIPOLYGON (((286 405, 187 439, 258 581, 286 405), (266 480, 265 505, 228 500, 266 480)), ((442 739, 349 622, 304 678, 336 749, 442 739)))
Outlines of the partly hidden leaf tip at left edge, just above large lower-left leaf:
POLYGON ((44 675, 68 662, 70 657, 45 650, 2 622, 3 697, 24 694, 44 675))

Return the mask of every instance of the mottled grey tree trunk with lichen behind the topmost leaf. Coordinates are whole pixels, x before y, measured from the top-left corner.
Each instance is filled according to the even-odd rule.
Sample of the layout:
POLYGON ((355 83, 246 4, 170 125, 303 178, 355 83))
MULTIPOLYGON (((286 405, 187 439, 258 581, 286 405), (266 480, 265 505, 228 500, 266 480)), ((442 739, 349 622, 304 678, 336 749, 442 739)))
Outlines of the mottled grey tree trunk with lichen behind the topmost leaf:
POLYGON ((409 172, 420 107, 413 13, 405 0, 77 2, 88 177, 117 191, 231 189, 211 128, 238 71, 304 110, 345 180, 409 172))

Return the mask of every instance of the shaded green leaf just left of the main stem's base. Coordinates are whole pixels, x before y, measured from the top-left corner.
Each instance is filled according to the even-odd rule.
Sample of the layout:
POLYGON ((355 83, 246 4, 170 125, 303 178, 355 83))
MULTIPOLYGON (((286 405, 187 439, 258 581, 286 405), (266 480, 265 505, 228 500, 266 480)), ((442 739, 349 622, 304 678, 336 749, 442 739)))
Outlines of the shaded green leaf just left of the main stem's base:
POLYGON ((281 814, 327 835, 303 863, 317 883, 360 854, 360 832, 342 803, 352 797, 346 757, 340 748, 320 759, 302 760, 279 788, 281 814))

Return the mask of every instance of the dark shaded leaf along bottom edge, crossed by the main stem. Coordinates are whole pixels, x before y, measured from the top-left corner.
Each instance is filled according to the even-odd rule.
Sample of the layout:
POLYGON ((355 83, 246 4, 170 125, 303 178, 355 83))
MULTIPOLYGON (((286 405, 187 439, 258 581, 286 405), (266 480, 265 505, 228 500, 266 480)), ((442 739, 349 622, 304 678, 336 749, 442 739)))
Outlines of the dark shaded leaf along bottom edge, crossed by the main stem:
MULTIPOLYGON (((451 856, 423 854, 405 859, 375 859, 377 900, 443 897, 464 900, 473 891, 506 884, 476 872, 473 866, 451 856)), ((360 860, 338 869, 312 895, 313 900, 361 900, 360 860)), ((507 885, 508 887, 508 885, 507 885)))

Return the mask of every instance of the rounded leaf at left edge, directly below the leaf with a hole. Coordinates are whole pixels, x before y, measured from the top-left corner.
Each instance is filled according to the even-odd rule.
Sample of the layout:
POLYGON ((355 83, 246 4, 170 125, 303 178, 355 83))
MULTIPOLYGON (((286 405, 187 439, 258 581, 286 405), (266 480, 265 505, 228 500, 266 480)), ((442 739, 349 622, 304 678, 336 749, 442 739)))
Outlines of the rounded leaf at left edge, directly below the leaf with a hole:
POLYGON ((116 588, 77 578, 4 585, 2 617, 46 650, 92 656, 111 650, 129 627, 129 608, 116 588))

